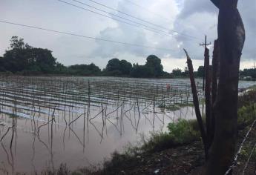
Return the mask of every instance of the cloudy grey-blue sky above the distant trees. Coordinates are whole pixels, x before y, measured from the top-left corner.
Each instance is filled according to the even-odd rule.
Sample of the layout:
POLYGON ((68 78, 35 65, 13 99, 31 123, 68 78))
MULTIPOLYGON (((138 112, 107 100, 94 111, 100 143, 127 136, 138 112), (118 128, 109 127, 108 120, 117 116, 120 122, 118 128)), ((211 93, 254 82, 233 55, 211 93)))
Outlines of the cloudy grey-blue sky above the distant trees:
MULTIPOLYGON (((256 1, 240 0, 238 8, 246 27, 240 64, 243 69, 256 61, 256 1)), ((203 47, 199 44, 204 35, 211 43, 217 37, 217 8, 208 0, 0 0, 0 12, 0 21, 4 22, 151 47, 0 22, 0 56, 8 49, 11 36, 19 36, 33 47, 52 50, 64 65, 93 62, 103 68, 115 57, 142 65, 148 55, 155 54, 162 59, 164 70, 170 72, 186 67, 184 47, 197 68, 203 65, 203 47)))

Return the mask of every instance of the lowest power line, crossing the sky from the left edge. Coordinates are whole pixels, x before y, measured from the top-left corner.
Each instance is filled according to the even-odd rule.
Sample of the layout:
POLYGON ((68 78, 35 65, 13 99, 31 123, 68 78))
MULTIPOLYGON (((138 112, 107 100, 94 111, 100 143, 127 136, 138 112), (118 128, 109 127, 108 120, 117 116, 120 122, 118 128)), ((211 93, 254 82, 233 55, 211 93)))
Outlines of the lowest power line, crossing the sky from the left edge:
POLYGON ((47 29, 47 28, 43 28, 43 27, 36 27, 36 26, 26 25, 26 24, 18 24, 18 23, 7 22, 7 21, 2 21, 2 20, 0 20, 0 22, 5 23, 5 24, 13 24, 13 25, 17 25, 17 26, 22 26, 22 27, 29 27, 29 28, 38 29, 38 30, 46 30, 46 31, 53 32, 53 33, 62 33, 62 34, 70 35, 70 36, 78 36, 78 37, 82 37, 85 39, 95 39, 95 40, 102 41, 102 42, 112 42, 112 43, 116 43, 116 44, 124 44, 124 45, 133 46, 133 47, 145 47, 145 48, 155 49, 155 50, 165 50, 165 51, 172 51, 172 52, 177 51, 177 50, 171 50, 171 49, 162 48, 162 47, 151 47, 151 46, 142 45, 142 44, 132 44, 132 43, 128 43, 128 42, 117 42, 117 41, 114 41, 111 39, 102 39, 102 38, 96 38, 93 36, 83 36, 83 35, 79 35, 76 33, 62 32, 59 30, 51 30, 51 29, 47 29))

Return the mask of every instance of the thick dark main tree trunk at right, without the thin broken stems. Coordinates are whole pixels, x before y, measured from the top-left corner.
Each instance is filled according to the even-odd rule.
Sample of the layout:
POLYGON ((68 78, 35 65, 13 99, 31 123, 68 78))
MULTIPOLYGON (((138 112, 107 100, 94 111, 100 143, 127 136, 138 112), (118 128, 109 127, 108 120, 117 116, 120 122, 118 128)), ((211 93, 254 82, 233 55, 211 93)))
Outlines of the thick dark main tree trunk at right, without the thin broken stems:
MULTIPOLYGON (((234 159, 237 133, 237 87, 245 30, 237 0, 211 0, 219 8, 220 80, 215 103, 215 131, 207 174, 225 174, 234 159)), ((232 172, 232 171, 231 171, 232 172)))

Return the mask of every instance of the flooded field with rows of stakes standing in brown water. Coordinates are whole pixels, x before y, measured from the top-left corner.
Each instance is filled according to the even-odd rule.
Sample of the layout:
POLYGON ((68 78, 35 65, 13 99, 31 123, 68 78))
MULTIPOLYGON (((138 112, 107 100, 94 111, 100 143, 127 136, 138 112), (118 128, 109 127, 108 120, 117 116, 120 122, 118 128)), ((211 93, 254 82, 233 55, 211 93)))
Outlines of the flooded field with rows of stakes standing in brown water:
POLYGON ((189 79, 1 76, 0 174, 100 165, 142 134, 195 118, 191 104, 189 79))

